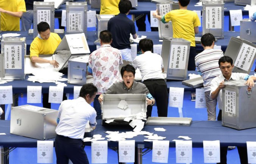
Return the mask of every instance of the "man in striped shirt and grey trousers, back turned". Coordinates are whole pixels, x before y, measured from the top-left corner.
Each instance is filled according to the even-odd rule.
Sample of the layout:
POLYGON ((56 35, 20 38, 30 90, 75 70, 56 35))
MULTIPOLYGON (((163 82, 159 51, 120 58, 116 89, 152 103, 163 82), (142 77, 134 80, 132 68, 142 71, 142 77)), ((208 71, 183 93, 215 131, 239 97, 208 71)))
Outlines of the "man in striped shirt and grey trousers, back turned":
POLYGON ((208 33, 201 37, 201 45, 204 51, 195 57, 195 66, 198 73, 203 76, 204 81, 204 95, 206 100, 206 107, 208 113, 208 120, 216 120, 216 105, 217 100, 212 100, 210 96, 211 81, 215 77, 221 75, 219 68, 219 59, 223 57, 223 52, 220 49, 213 49, 215 37, 208 33))

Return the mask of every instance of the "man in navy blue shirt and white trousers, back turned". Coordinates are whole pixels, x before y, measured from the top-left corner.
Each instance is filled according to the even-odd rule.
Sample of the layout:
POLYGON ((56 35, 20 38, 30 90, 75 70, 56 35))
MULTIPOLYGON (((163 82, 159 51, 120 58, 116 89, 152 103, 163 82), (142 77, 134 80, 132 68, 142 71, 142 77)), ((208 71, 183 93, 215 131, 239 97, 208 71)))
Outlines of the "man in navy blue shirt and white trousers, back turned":
POLYGON ((132 61, 130 34, 133 38, 137 38, 135 25, 132 20, 127 18, 127 15, 132 8, 129 0, 120 0, 118 4, 120 13, 108 21, 108 31, 112 33, 111 46, 119 49, 123 60, 132 61))

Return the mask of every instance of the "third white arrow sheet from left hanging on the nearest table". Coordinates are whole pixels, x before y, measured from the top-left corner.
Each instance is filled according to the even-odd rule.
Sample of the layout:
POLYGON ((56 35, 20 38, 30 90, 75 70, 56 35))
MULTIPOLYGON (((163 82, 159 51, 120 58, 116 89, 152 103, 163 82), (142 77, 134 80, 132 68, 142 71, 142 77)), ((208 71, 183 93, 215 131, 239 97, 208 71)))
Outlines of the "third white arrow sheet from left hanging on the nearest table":
POLYGON ((119 162, 134 162, 135 140, 119 141, 118 147, 119 162))

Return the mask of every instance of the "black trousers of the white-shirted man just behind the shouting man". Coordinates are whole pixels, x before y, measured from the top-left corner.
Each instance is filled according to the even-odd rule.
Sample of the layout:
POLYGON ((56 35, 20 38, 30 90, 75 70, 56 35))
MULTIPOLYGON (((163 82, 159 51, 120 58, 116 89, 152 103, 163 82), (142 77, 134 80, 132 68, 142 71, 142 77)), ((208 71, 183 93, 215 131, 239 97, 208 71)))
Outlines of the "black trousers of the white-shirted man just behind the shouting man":
MULTIPOLYGON (((157 80, 157 79, 152 79, 152 80, 157 80)), ((150 94, 156 100, 158 116, 159 117, 167 117, 168 92, 167 92, 167 85, 166 85, 164 79, 159 79, 157 81, 144 80, 143 83, 147 86, 150 94)), ((152 107, 153 106, 151 106, 151 105, 147 106, 147 118, 151 117, 152 107)))

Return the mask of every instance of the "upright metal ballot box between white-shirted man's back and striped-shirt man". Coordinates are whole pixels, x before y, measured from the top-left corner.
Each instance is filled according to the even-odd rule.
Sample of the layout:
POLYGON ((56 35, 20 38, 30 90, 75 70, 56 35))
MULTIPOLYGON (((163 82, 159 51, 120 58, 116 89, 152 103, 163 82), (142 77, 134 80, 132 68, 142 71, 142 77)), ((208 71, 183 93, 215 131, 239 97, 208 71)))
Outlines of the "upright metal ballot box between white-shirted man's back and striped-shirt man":
POLYGON ((165 38, 162 43, 161 56, 164 68, 167 70, 166 79, 185 80, 187 64, 189 63, 190 42, 183 38, 165 38))

